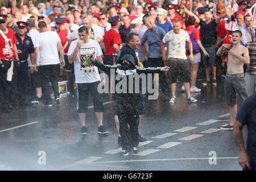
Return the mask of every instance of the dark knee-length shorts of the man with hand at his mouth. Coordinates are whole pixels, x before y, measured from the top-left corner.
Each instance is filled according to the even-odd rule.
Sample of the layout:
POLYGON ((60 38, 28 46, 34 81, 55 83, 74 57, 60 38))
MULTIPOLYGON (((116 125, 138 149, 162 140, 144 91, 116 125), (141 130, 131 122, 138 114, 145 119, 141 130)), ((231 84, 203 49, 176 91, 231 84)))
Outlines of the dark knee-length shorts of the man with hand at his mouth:
POLYGON ((97 87, 100 81, 77 84, 77 113, 86 113, 88 110, 89 93, 92 96, 93 106, 95 112, 103 112, 103 98, 102 94, 98 93, 97 87))

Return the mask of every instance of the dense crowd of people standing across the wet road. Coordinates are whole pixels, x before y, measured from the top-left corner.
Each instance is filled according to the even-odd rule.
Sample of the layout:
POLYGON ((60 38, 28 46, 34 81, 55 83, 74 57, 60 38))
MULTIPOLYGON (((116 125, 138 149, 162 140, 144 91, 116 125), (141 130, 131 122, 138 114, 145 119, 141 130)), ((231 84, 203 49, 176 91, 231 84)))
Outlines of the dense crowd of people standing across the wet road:
MULTIPOLYGON (((17 5, 10 0, 0 13, 2 113, 39 102, 51 107, 51 90, 59 105, 58 80, 64 69, 70 95, 77 97, 81 134, 88 131, 89 93, 98 133, 108 134, 97 86, 109 84, 110 68, 125 76, 159 73, 159 91, 170 104, 176 101, 177 78, 191 104, 197 102, 191 93, 200 93, 203 86, 217 86, 217 72, 225 68, 230 124, 221 129, 233 130, 237 95, 243 101, 256 92, 256 23, 255 10, 251 11, 255 2, 21 0, 17 5), (196 81, 199 68, 205 71, 202 85, 196 81), (108 74, 100 74, 104 71, 108 74)), ((138 133, 140 115, 145 113, 143 95, 114 97, 122 155, 137 153, 138 142, 146 140, 138 133)))

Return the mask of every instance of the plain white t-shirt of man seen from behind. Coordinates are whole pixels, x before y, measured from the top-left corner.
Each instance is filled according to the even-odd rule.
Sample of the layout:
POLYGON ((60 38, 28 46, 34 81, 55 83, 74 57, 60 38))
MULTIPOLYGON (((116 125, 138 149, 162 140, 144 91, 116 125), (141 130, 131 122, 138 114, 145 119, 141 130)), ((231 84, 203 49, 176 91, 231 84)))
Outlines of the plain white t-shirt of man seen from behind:
POLYGON ((35 40, 35 46, 39 47, 39 64, 59 64, 59 52, 57 43, 61 42, 59 35, 53 31, 42 32, 35 40))

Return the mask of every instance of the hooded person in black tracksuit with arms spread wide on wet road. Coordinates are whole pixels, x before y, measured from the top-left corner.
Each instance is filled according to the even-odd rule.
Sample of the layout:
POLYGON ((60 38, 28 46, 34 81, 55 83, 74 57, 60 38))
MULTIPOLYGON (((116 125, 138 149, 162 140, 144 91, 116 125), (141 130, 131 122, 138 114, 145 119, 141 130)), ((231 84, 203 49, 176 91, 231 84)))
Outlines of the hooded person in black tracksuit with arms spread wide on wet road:
MULTIPOLYGON (((93 60, 94 61, 94 60, 93 60)), ((104 65, 98 61, 94 62, 96 67, 102 71, 109 73, 111 69, 115 69, 115 74, 120 76, 126 76, 127 90, 129 89, 129 79, 133 79, 135 74, 141 73, 160 73, 161 71, 168 71, 169 67, 158 68, 139 68, 136 66, 133 56, 125 55, 119 61, 120 64, 104 65), (131 77, 130 77, 131 76, 131 77)), ((122 79, 123 81, 123 79, 122 79)), ((117 81, 118 82, 118 81, 117 81)), ((139 113, 137 110, 137 102, 139 93, 135 93, 135 86, 139 85, 139 82, 133 82, 133 93, 115 93, 115 101, 117 102, 117 114, 119 118, 119 133, 122 140, 122 152, 121 155, 131 155, 138 153, 139 144, 139 113), (138 84, 138 85, 137 85, 138 84), (130 128, 128 127, 130 126, 130 128)))

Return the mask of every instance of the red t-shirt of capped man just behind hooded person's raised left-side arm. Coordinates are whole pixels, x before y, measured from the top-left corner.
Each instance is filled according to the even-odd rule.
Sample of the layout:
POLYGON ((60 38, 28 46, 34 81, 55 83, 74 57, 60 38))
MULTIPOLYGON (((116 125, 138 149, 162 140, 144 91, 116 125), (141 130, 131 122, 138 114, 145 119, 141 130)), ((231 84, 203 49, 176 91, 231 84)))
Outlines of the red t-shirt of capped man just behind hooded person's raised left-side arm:
POLYGON ((110 56, 115 53, 113 45, 118 44, 118 46, 120 46, 122 44, 122 39, 117 30, 110 29, 105 33, 103 42, 105 44, 105 55, 110 56))

